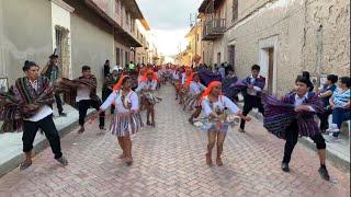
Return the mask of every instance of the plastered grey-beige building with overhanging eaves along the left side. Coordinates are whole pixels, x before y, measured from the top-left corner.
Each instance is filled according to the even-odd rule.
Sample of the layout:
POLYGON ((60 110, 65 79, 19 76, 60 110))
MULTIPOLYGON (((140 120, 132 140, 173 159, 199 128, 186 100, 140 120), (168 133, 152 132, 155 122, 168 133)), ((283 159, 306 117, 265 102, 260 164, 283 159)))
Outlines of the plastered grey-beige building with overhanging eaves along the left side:
POLYGON ((143 47, 136 20, 144 21, 135 0, 0 1, 0 78, 23 76, 29 59, 44 66, 57 49, 64 77, 76 78, 89 65, 101 85, 102 67, 124 66, 132 47, 143 47))

